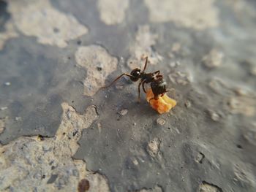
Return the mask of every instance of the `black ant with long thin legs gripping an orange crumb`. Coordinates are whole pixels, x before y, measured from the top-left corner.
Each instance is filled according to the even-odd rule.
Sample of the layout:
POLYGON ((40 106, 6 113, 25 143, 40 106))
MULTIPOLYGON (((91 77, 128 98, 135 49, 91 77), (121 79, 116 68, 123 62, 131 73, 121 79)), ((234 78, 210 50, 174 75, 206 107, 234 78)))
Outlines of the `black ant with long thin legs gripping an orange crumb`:
POLYGON ((151 82, 151 84, 150 84, 151 89, 152 89, 152 92, 154 93, 154 97, 151 99, 157 100, 159 98, 159 96, 163 96, 167 92, 167 90, 166 90, 167 83, 165 82, 164 78, 162 77, 162 74, 160 74, 159 70, 157 72, 153 72, 153 73, 146 73, 145 69, 147 67, 147 64, 148 64, 148 57, 146 57, 143 71, 141 71, 139 68, 135 68, 132 70, 132 72, 130 74, 123 73, 120 76, 116 77, 116 80, 113 80, 113 82, 111 82, 110 85, 102 87, 102 88, 110 87, 118 79, 120 79, 122 76, 126 75, 133 82, 140 80, 140 83, 138 85, 138 93, 139 93, 138 101, 139 102, 140 102, 140 85, 142 85, 143 91, 146 93, 145 83, 149 83, 149 82, 151 82))

